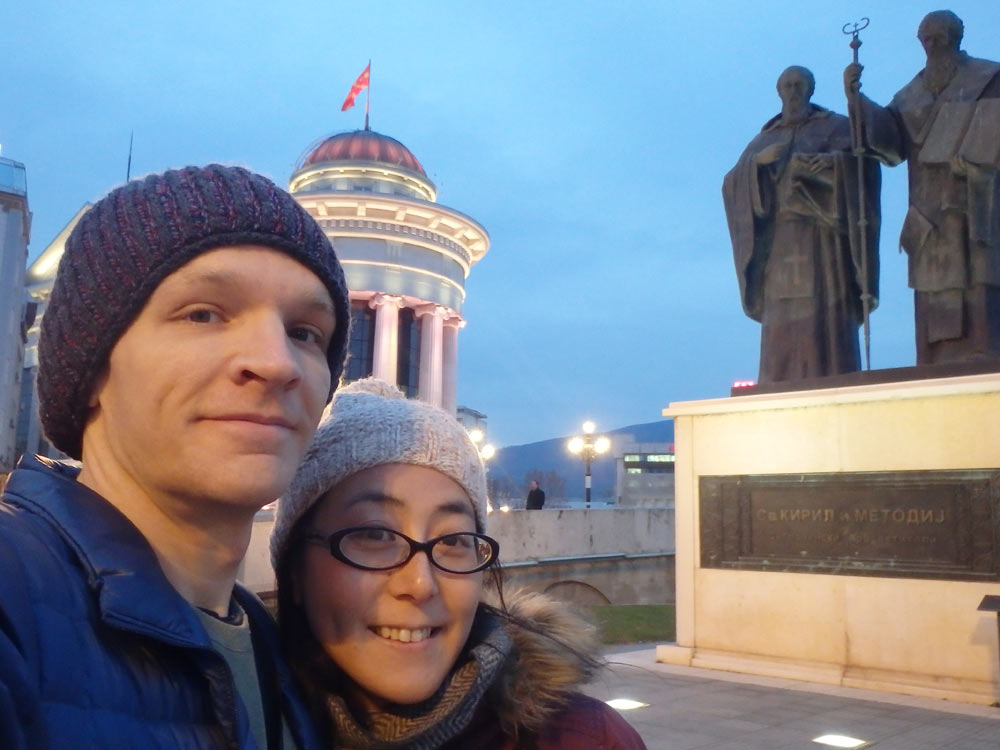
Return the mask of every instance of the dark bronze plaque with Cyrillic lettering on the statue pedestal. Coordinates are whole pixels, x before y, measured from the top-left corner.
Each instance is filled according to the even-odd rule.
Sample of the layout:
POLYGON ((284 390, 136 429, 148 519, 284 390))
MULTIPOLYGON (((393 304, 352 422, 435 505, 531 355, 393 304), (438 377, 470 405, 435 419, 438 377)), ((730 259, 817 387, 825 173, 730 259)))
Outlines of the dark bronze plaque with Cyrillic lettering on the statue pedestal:
POLYGON ((1000 470, 701 477, 705 568, 1000 580, 1000 470))

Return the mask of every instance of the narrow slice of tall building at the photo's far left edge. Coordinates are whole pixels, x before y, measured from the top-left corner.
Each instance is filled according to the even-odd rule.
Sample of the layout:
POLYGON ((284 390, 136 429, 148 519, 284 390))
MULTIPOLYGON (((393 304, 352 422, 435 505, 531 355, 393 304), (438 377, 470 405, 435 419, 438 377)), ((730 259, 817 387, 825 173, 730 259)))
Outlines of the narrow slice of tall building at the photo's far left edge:
POLYGON ((31 214, 24 165, 0 159, 0 474, 9 472, 15 449, 21 369, 31 311, 24 292, 31 214))

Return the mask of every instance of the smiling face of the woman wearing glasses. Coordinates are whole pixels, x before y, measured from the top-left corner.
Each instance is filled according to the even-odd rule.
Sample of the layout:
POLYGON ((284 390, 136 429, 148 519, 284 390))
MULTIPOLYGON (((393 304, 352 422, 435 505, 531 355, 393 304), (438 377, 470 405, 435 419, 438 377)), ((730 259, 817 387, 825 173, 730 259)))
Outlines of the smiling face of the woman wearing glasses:
MULTIPOLYGON (((423 466, 385 464, 345 479, 319 501, 311 528, 381 526, 416 541, 475 531, 461 485, 423 466)), ((313 635, 369 707, 410 704, 440 687, 465 645, 482 572, 446 573, 418 552, 399 568, 360 570, 308 545, 297 592, 313 635)))

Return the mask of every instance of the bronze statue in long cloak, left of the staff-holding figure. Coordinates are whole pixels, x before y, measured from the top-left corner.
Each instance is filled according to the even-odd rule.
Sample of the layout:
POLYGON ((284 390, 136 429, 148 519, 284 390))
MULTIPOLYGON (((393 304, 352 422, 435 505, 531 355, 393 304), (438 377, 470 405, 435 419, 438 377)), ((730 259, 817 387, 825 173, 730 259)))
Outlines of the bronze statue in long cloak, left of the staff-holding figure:
POLYGON ((878 165, 864 171, 863 243, 850 125, 810 103, 815 86, 798 65, 778 77, 781 113, 722 187, 743 309, 761 323, 761 383, 858 370, 862 295, 877 304, 878 165))

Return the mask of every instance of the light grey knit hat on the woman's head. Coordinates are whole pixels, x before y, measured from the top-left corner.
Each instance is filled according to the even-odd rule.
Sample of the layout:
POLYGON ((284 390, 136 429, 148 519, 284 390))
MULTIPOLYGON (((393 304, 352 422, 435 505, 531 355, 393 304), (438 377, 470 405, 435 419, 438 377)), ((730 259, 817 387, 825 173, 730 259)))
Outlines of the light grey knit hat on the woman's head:
POLYGON ((295 524, 326 492, 382 464, 427 466, 454 479, 486 530, 486 470, 465 428, 451 414, 408 399, 393 385, 365 378, 337 391, 288 491, 271 532, 275 569, 295 524))

